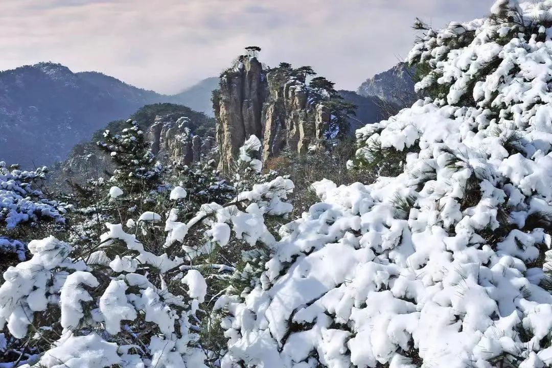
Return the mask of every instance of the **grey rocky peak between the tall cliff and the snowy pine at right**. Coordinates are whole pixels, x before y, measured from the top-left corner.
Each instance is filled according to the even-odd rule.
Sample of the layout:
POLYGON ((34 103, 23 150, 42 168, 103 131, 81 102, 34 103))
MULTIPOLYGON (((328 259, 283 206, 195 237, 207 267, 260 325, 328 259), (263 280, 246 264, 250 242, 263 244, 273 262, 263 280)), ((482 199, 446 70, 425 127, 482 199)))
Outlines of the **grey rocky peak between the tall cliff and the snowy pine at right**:
POLYGON ((400 62, 391 69, 366 79, 358 88, 358 94, 377 97, 393 105, 405 107, 415 95, 413 68, 400 62))

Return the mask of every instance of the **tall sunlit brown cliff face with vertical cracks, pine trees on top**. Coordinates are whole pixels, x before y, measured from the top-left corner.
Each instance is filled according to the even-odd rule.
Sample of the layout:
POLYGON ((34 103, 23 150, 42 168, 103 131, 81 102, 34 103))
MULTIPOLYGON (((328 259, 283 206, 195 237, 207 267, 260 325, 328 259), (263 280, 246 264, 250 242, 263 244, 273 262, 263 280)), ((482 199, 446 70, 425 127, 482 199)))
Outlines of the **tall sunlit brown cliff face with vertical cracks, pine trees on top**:
POLYGON ((230 169, 250 135, 262 139, 263 159, 286 147, 297 153, 316 147, 330 121, 328 109, 317 100, 304 80, 282 79, 264 70, 256 57, 238 57, 213 95, 219 169, 230 169))

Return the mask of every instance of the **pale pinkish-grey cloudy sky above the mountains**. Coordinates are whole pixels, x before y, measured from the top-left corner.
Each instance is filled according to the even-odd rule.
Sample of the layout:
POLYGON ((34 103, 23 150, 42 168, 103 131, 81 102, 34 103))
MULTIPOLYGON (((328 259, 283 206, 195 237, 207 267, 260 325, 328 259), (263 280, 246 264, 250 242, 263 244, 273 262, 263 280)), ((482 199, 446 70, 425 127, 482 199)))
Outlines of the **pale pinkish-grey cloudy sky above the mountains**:
POLYGON ((0 70, 40 61, 177 93, 243 47, 356 90, 404 59, 416 17, 438 28, 493 0, 0 0, 0 70))

